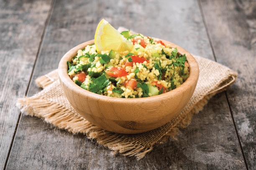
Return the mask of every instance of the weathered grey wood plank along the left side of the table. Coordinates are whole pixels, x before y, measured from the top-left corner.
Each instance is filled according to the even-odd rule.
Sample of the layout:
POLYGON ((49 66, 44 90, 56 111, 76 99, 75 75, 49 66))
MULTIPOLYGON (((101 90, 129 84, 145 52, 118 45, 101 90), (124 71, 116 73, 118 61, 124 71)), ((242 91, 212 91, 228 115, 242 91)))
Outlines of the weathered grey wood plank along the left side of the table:
POLYGON ((0 170, 8 157, 19 110, 44 32, 51 0, 0 0, 0 170))

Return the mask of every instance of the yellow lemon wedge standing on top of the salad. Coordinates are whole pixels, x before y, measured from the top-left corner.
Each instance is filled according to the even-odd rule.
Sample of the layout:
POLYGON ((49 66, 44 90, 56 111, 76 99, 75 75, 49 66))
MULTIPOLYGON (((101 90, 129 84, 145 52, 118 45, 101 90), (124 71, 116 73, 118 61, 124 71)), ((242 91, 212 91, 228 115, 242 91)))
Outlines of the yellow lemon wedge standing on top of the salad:
POLYGON ((122 52, 131 51, 133 43, 121 35, 108 21, 102 19, 95 32, 95 46, 98 52, 106 50, 122 52))

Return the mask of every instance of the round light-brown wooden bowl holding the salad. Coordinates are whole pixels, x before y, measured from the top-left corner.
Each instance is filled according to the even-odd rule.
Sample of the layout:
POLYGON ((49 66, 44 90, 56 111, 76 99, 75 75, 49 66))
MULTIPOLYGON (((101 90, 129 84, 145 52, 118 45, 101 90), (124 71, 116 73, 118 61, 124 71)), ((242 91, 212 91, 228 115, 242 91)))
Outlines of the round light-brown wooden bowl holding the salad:
POLYGON ((59 80, 67 99, 77 112, 99 128, 115 133, 142 133, 166 124, 187 105, 197 85, 199 68, 195 58, 186 50, 162 40, 170 47, 177 47, 179 54, 186 54, 189 77, 178 88, 161 95, 145 98, 114 98, 98 95, 76 85, 67 74, 67 61, 94 40, 84 42, 69 50, 59 62, 59 80))

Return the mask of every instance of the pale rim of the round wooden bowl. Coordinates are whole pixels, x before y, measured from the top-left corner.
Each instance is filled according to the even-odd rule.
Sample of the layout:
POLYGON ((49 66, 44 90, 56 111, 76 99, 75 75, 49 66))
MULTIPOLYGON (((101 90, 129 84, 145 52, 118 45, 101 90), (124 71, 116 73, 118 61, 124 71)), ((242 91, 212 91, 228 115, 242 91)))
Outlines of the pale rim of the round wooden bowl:
MULTIPOLYGON (((161 39, 159 39, 161 40, 161 39)), ((90 92, 88 90, 83 89, 82 87, 79 87, 77 84, 75 84, 71 78, 69 77, 67 73, 67 61, 71 61, 72 58, 77 55, 77 51, 84 49, 87 45, 91 45, 94 43, 94 40, 90 40, 87 42, 83 42, 75 47, 73 47, 71 50, 69 50, 60 60, 59 67, 58 67, 58 74, 59 79, 67 86, 70 90, 75 90, 79 92, 81 95, 85 95, 87 97, 93 97, 98 100, 107 100, 108 102, 125 102, 125 103, 134 103, 134 102, 148 102, 152 100, 163 100, 166 97, 172 98, 175 97, 178 93, 182 92, 183 90, 189 88, 192 84, 197 83, 198 77, 199 77, 199 67, 197 64, 197 61, 195 58, 187 52, 187 50, 184 50, 182 47, 179 47, 178 45, 175 45, 172 42, 168 42, 166 40, 161 40, 164 42, 165 45, 170 44, 170 47, 176 47, 178 53, 185 54, 188 60, 189 64, 189 77, 187 80, 177 87, 174 90, 171 90, 169 92, 163 93, 161 95, 151 96, 151 97, 141 97, 141 98, 116 98, 116 97, 109 97, 105 95, 99 95, 97 93, 90 92)))

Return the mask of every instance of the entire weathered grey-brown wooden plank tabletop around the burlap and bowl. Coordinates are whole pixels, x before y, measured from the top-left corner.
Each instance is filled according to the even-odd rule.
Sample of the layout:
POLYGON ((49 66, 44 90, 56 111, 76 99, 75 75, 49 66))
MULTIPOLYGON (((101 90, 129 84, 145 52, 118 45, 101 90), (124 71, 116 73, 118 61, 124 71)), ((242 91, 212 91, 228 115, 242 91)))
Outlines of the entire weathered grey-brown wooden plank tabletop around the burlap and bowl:
POLYGON ((253 0, 0 0, 0 170, 255 170, 256 2, 253 0), (174 42, 238 72, 177 140, 143 159, 110 155, 85 135, 21 114, 16 101, 99 21, 174 42))

